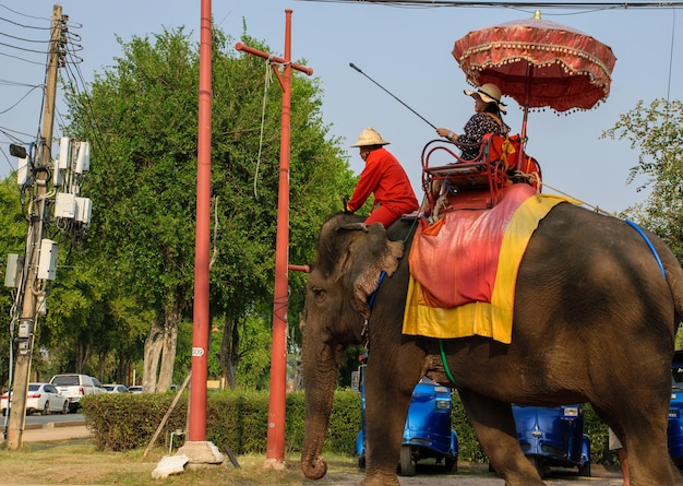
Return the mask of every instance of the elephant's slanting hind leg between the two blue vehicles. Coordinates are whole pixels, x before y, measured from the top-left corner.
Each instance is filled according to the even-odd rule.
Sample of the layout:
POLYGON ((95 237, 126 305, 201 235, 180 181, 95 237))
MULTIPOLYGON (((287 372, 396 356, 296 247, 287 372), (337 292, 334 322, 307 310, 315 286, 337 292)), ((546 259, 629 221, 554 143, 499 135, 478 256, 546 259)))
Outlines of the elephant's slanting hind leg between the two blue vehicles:
POLYGON ((459 390, 459 395, 483 451, 505 486, 544 485, 519 448, 511 404, 467 389, 459 390))

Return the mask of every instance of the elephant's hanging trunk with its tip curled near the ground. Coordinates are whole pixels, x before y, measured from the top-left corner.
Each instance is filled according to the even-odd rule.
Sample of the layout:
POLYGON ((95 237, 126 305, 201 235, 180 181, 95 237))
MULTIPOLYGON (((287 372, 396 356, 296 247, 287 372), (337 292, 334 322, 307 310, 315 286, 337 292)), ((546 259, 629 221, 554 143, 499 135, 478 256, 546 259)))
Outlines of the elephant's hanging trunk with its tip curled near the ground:
POLYGON ((304 333, 305 432, 301 453, 301 470, 309 479, 320 479, 327 472, 327 462, 321 452, 332 412, 338 366, 334 358, 334 352, 328 346, 311 341, 313 340, 307 339, 304 333), (319 352, 316 353, 309 345, 319 352))

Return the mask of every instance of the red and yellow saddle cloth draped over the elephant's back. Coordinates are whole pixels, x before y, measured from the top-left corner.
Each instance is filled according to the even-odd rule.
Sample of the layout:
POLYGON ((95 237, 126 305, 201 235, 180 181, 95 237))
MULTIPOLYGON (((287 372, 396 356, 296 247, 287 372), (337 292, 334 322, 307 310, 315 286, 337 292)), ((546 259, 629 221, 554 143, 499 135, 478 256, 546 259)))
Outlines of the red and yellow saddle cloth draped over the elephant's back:
POLYGON ((409 254, 404 333, 510 343, 517 269, 538 223, 562 198, 510 185, 493 209, 421 221, 409 254))

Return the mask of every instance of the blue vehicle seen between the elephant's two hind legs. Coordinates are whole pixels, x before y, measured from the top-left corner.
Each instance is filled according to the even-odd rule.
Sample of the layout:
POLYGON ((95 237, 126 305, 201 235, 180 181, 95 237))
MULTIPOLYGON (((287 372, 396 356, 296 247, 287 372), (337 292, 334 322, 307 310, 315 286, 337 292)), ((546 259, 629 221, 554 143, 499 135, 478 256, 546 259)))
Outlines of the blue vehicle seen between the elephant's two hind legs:
POLYGON ((513 404, 517 439, 541 477, 551 466, 578 467, 590 476, 590 437, 584 434, 582 404, 554 407, 513 404))

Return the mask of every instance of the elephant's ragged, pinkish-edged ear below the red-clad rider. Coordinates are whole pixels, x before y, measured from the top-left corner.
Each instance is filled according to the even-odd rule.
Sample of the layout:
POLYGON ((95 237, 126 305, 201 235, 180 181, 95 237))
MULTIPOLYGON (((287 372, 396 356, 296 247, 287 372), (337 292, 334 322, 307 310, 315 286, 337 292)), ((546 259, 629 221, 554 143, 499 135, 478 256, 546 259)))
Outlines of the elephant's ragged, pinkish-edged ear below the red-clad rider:
POLYGON ((404 254, 403 241, 391 241, 381 223, 368 226, 368 232, 349 246, 349 275, 354 296, 351 305, 363 318, 370 318, 368 299, 378 289, 380 275, 391 276, 404 254))

